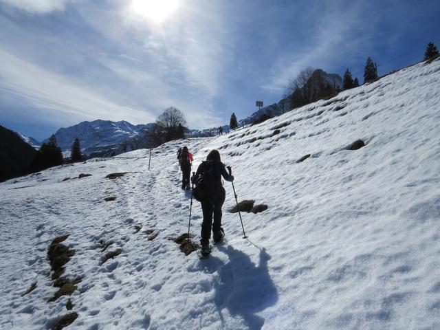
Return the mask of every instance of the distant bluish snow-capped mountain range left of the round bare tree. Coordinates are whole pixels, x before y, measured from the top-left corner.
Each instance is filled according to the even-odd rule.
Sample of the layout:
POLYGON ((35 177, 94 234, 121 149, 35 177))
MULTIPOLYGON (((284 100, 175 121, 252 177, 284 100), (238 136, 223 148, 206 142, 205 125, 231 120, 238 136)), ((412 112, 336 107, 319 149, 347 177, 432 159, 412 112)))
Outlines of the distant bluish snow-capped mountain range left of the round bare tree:
MULTIPOLYGON (((69 152, 76 137, 85 155, 118 148, 120 142, 143 136, 153 124, 133 125, 126 121, 94 120, 58 129, 56 142, 63 152, 69 152)), ((47 139, 48 140, 48 139, 47 139)), ((43 142, 47 142, 47 140, 43 142)))

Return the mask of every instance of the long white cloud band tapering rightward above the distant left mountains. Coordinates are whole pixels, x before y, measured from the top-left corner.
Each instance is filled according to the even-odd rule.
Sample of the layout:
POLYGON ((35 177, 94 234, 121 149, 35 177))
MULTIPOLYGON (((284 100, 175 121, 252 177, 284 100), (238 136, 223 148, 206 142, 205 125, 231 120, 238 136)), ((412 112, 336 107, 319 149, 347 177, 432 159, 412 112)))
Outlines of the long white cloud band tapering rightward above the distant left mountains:
POLYGON ((0 49, 0 91, 21 96, 34 107, 56 110, 67 118, 109 118, 112 120, 152 121, 138 109, 111 102, 90 86, 40 67, 0 49))

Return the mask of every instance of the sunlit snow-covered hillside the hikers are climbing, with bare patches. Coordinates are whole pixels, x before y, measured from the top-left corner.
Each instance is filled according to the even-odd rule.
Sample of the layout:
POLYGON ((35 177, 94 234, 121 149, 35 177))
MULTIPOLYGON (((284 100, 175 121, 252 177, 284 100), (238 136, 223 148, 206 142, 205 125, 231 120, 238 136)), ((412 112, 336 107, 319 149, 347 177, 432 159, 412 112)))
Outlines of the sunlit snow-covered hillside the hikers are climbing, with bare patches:
MULTIPOLYGON (((420 63, 187 140, 195 166, 218 148, 239 200, 269 207, 242 214, 242 239, 225 182, 227 242, 204 261, 171 241, 190 210, 179 142, 154 149, 149 171, 138 150, 0 184, 1 329, 50 329, 69 298, 78 318, 67 329, 440 329, 439 82, 440 60, 420 63), (358 139, 366 146, 348 150, 358 139), (114 172, 129 173, 105 178, 114 172), (76 250, 65 276, 82 281, 48 303, 47 248, 63 234, 76 250)), ((200 227, 195 202, 196 240, 200 227)))

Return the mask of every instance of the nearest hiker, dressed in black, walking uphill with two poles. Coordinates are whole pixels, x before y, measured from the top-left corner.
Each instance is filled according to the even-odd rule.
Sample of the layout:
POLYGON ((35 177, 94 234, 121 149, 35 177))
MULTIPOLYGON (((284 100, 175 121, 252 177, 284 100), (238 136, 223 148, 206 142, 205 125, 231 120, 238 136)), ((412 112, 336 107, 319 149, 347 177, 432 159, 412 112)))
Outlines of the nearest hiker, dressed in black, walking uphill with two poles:
POLYGON ((225 164, 220 160, 220 153, 217 150, 212 150, 206 157, 206 161, 202 162, 197 168, 197 172, 193 177, 193 183, 196 184, 195 194, 200 192, 197 183, 198 178, 202 177, 204 186, 202 188, 203 195, 195 196, 201 201, 201 209, 203 211, 203 223, 201 224, 201 253, 209 255, 209 240, 211 238, 211 228, 214 234, 214 243, 219 243, 223 240, 224 230, 221 228, 221 206, 225 201, 225 188, 221 183, 221 177, 226 181, 234 181, 234 177, 226 172, 225 164), (209 172, 207 176, 205 173, 209 172), (214 217, 214 223, 212 223, 214 217))

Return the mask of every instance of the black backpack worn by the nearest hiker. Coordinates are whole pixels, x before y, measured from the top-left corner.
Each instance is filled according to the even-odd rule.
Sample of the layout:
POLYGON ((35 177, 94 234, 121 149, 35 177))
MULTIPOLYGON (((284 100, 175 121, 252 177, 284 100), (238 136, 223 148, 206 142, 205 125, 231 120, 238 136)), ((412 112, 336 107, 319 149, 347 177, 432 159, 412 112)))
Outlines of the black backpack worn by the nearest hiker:
POLYGON ((206 160, 202 166, 201 174, 195 179, 192 195, 197 201, 214 203, 217 197, 214 164, 212 161, 206 160))

